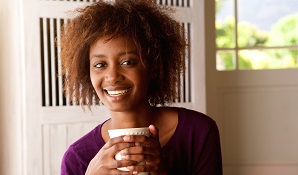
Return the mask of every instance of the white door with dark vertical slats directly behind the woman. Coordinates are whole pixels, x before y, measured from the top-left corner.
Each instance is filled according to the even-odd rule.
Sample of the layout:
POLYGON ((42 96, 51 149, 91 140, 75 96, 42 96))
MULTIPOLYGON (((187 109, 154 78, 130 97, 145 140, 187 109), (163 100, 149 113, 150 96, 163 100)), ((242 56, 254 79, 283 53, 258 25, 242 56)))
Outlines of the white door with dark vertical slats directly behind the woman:
MULTIPOLYGON (((181 77, 183 92, 175 105, 205 112, 204 2, 203 0, 157 0, 177 9, 192 44, 186 51, 187 70, 181 77)), ((109 117, 107 109, 94 104, 92 112, 71 104, 62 94, 59 76, 61 26, 71 16, 67 11, 91 0, 26 0, 23 3, 25 29, 24 174, 57 175, 67 147, 109 117)))

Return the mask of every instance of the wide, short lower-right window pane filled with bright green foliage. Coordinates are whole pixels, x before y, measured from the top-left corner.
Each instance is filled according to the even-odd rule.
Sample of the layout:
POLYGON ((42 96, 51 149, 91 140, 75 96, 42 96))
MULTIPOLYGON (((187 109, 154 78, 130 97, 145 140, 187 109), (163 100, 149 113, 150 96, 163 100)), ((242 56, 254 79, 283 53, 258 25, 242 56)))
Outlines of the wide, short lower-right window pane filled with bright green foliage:
POLYGON ((239 51, 240 70, 298 68, 298 50, 241 50, 239 51))

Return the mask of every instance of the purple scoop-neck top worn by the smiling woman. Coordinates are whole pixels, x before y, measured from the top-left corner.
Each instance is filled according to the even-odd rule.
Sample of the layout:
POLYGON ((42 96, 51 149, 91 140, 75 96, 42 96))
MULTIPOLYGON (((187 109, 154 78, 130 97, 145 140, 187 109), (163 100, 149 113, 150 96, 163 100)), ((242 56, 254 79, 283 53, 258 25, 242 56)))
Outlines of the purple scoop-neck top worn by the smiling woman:
MULTIPOLYGON (((185 108, 177 108, 178 125, 162 148, 169 174, 222 175, 219 132, 210 117, 185 108)), ((105 144, 101 126, 70 145, 65 152, 61 175, 84 175, 91 159, 105 144)))

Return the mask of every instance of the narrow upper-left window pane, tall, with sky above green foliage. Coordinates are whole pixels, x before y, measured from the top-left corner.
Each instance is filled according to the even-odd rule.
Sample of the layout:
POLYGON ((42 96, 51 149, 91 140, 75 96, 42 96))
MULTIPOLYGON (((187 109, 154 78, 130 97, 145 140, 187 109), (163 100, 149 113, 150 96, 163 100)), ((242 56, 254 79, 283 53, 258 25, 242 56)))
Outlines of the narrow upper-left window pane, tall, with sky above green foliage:
POLYGON ((216 46, 235 48, 234 0, 216 0, 216 46))

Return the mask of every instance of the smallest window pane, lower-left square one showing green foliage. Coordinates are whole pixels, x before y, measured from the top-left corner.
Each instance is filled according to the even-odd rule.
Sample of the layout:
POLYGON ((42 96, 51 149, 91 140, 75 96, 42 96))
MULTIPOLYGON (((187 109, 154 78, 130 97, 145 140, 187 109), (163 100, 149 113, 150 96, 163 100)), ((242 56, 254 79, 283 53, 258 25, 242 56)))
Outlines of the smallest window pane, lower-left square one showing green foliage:
POLYGON ((235 51, 217 51, 216 69, 235 70, 236 69, 235 51))

